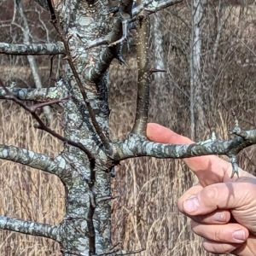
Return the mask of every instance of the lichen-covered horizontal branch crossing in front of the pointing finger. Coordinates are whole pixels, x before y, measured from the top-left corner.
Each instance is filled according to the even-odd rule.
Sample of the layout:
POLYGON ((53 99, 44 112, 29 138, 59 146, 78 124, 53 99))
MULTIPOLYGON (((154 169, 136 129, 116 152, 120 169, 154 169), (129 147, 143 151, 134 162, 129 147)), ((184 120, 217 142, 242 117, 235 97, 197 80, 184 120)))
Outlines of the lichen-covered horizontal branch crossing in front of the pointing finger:
POLYGON ((209 139, 201 143, 172 145, 149 142, 146 137, 130 134, 124 142, 113 144, 114 160, 125 160, 137 156, 183 159, 209 154, 224 154, 230 157, 234 173, 238 175, 236 155, 243 149, 256 144, 256 130, 232 131, 238 137, 230 141, 209 139))

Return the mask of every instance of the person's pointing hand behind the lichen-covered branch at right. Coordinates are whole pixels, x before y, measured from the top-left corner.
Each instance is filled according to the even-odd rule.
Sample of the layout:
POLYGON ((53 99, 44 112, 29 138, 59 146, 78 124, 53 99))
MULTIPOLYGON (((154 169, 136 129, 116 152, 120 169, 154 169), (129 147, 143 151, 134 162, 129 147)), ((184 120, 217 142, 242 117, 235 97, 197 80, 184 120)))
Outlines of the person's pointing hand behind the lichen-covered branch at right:
MULTIPOLYGON (((188 137, 157 124, 148 124, 150 141, 168 144, 193 143, 188 137)), ((183 159, 199 183, 177 201, 180 212, 192 219, 191 228, 204 238, 209 253, 256 255, 256 177, 215 155, 183 159), (233 218, 232 218, 233 217, 233 218)))

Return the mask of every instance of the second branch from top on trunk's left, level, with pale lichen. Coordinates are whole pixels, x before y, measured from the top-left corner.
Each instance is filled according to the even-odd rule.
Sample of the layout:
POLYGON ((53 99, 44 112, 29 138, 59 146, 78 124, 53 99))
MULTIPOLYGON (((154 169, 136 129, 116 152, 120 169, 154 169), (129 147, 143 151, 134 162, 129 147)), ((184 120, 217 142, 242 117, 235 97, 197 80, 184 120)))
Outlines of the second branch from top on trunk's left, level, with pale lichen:
MULTIPOLYGON (((65 87, 50 87, 49 93, 45 97, 47 88, 11 88, 7 87, 9 92, 20 101, 47 102, 50 100, 61 99, 68 95, 65 87)), ((0 99, 5 99, 6 92, 0 87, 0 99)))

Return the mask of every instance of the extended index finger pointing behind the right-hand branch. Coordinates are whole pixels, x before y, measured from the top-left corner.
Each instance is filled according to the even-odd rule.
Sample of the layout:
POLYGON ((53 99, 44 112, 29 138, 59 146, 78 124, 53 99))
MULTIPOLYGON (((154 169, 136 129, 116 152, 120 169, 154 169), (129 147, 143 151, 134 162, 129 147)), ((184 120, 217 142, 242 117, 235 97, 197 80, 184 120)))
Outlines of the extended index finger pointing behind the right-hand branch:
MULTIPOLYGON (((147 125, 147 137, 150 141, 156 143, 168 144, 190 144, 194 143, 188 137, 178 135, 168 128, 149 123, 147 125)), ((229 162, 220 159, 215 155, 196 156, 184 158, 183 161, 189 166, 189 169, 195 173, 203 187, 212 183, 221 183, 230 181, 232 167, 229 162)), ((232 180, 235 181, 237 177, 232 180)))

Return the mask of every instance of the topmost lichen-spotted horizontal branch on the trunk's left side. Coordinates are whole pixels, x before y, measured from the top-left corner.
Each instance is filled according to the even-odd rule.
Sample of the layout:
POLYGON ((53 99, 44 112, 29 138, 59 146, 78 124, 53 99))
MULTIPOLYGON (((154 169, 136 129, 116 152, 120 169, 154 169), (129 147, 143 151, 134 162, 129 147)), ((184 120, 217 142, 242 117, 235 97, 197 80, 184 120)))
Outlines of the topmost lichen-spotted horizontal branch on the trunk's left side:
POLYGON ((65 55, 65 48, 62 42, 53 44, 0 43, 0 53, 6 55, 65 55))

